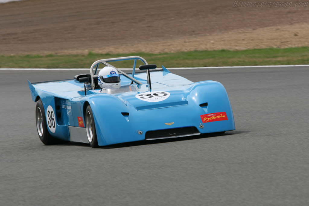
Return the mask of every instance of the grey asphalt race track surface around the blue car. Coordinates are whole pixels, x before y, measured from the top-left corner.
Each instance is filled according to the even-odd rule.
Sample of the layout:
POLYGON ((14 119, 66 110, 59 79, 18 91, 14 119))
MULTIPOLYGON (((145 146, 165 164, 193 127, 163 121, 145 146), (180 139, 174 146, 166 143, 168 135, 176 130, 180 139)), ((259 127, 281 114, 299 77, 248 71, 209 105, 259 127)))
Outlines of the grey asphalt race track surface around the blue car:
POLYGON ((27 79, 84 72, 1 70, 0 205, 309 205, 309 67, 172 72, 221 82, 236 130, 111 148, 45 146, 27 79))

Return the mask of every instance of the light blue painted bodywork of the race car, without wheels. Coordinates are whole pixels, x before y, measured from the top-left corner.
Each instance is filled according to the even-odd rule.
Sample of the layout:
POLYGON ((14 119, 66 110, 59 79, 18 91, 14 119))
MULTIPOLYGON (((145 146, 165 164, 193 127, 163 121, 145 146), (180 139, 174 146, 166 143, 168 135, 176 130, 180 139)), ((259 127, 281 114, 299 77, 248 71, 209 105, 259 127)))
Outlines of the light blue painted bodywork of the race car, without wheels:
POLYGON ((231 104, 219 82, 191 82, 163 67, 150 72, 150 91, 146 72, 134 74, 142 83, 138 85, 120 76, 121 86, 137 86, 138 90, 106 94, 100 93, 101 89, 87 89, 85 95, 84 83, 73 79, 28 84, 32 100, 42 100, 45 115, 51 108, 56 114, 55 129, 48 130, 62 140, 72 138, 68 126, 85 127, 87 105, 101 146, 145 140, 147 132, 165 129, 194 127, 199 133, 235 130, 231 104))

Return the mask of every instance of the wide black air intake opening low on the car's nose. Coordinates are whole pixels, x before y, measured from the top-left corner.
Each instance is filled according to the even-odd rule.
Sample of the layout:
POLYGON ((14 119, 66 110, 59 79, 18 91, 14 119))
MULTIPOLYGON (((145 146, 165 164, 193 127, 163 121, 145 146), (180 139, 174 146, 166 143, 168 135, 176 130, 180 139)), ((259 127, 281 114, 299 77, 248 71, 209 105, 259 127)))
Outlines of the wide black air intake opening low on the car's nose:
POLYGON ((196 127, 180 127, 173 129, 161 129, 146 132, 146 140, 186 137, 201 134, 196 127))

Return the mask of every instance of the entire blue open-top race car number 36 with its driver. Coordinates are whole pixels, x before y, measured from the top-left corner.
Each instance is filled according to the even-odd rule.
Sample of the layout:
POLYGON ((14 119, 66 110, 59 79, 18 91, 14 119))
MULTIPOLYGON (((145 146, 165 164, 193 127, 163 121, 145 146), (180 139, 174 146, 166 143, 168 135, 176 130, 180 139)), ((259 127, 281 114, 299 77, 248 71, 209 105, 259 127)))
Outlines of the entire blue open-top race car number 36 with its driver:
POLYGON ((95 61, 90 74, 74 79, 28 84, 45 145, 64 140, 95 148, 235 130, 221 83, 191 82, 138 56, 95 61), (125 60, 133 62, 132 73, 108 63, 125 60))

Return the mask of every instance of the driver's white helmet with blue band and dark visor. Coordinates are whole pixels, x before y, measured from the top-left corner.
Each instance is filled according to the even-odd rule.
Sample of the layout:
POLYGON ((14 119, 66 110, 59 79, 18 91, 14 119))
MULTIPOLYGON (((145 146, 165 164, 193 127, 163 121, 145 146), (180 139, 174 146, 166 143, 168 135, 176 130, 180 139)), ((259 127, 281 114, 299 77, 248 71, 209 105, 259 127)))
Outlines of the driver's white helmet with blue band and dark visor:
POLYGON ((98 74, 98 83, 101 88, 120 88, 118 71, 110 66, 105 66, 98 74))

